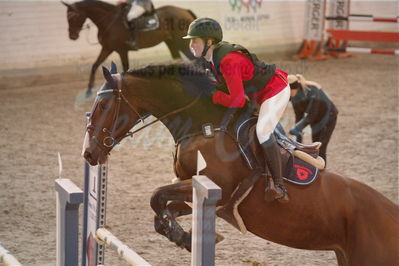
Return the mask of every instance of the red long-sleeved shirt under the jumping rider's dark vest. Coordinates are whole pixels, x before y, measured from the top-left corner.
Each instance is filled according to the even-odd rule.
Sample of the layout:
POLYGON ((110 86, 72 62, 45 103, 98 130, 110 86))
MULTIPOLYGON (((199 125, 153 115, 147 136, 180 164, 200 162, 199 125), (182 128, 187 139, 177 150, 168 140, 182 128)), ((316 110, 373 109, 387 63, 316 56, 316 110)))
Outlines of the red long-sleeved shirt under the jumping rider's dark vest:
MULTIPOLYGON (((252 79, 254 75, 254 64, 241 52, 231 52, 220 62, 220 72, 226 81, 229 93, 217 91, 212 100, 215 104, 226 107, 241 108, 245 105, 245 92, 243 81, 252 79)), ((249 94, 249 98, 255 99, 259 104, 282 91, 287 85, 287 76, 281 69, 276 69, 276 74, 270 79, 266 86, 256 93, 249 94)))

